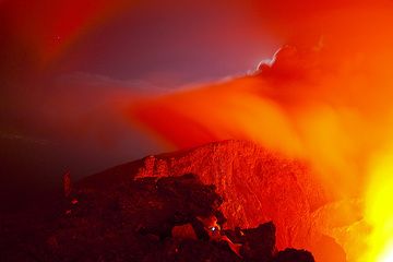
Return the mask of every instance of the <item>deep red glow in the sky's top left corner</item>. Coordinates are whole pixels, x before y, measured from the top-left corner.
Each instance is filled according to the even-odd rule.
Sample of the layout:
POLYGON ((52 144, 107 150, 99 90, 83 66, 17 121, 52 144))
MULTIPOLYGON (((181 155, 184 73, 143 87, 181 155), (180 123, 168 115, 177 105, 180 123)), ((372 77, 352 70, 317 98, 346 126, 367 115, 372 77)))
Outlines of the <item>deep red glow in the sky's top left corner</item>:
POLYGON ((0 8, 20 40, 35 48, 45 64, 59 57, 93 25, 123 11, 134 1, 126 0, 8 0, 0 8), (26 8, 26 4, 29 7, 26 8))

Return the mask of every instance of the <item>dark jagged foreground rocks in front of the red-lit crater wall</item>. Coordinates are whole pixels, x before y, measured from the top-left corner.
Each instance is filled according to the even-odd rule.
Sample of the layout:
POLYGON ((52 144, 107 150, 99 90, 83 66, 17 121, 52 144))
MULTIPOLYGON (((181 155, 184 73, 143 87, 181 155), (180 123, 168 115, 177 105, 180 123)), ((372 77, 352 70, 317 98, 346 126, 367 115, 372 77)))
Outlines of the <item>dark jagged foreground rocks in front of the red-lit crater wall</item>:
POLYGON ((195 175, 93 181, 68 192, 51 219, 19 225, 17 236, 12 223, 2 225, 13 247, 1 243, 1 261, 313 261, 305 251, 277 252, 273 223, 221 230, 223 198, 195 175), (206 217, 216 226, 207 227, 206 217), (172 235, 184 225, 193 237, 172 235))

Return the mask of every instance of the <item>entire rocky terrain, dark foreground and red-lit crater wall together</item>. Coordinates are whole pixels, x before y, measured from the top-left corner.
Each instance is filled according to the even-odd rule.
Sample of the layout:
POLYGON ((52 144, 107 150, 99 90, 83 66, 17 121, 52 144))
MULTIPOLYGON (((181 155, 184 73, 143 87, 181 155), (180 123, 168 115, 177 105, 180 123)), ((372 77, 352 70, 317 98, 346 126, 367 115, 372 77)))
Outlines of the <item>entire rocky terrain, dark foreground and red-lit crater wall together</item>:
POLYGON ((255 255, 239 258, 222 241, 170 236, 175 225, 214 214, 240 243, 246 240, 231 234, 236 227, 250 238, 252 228, 273 222, 273 235, 251 238, 248 254, 266 247, 259 239, 274 238, 271 258, 255 261, 309 261, 307 252, 274 250, 318 246, 317 261, 332 261, 323 250, 345 261, 340 246, 313 227, 312 213, 327 198, 307 163, 250 142, 150 156, 87 177, 68 194, 48 210, 1 217, 0 260, 253 261, 255 255))

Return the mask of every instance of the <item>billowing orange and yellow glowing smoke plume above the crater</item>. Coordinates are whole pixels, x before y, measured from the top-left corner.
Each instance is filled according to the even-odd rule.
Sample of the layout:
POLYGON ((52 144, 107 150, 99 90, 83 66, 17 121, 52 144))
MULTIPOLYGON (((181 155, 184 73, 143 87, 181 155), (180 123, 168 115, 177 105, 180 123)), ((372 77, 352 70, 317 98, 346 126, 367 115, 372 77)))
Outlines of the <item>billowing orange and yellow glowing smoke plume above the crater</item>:
POLYGON ((141 98, 127 114, 175 147, 245 139, 309 159, 332 201, 365 201, 346 235, 324 228, 347 261, 393 261, 390 10, 359 4, 311 15, 259 74, 141 98))

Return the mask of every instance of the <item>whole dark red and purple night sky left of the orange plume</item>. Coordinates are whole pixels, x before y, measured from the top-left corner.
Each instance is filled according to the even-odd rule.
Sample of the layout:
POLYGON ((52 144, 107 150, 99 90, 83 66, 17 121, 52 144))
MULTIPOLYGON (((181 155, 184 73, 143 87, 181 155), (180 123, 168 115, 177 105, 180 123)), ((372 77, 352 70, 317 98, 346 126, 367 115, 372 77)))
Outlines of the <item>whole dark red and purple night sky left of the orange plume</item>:
POLYGON ((166 151, 116 98, 242 75, 282 44, 245 1, 131 2, 0 1, 3 199, 166 151))

